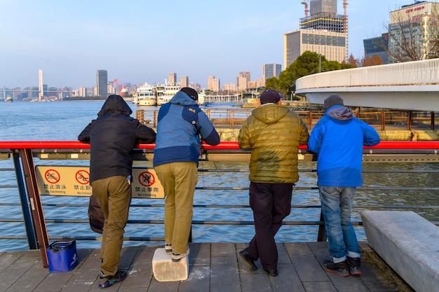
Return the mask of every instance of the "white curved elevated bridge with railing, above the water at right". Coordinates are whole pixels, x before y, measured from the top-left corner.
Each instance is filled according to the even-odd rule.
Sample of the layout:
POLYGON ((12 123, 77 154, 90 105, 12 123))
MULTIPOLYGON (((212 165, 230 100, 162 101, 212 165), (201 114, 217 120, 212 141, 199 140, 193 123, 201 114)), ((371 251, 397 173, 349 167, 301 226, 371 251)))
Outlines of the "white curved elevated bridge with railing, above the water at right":
POLYGON ((312 74, 297 79, 295 93, 311 104, 337 94, 346 106, 439 111, 439 59, 312 74))

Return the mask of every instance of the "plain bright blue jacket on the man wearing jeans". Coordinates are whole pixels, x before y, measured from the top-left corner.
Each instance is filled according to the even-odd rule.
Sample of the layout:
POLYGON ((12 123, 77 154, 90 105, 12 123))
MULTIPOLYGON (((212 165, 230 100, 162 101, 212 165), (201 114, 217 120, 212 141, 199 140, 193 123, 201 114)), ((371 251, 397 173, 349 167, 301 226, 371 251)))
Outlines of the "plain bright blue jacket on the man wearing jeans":
POLYGON ((317 185, 363 185, 363 146, 379 144, 377 131, 346 106, 332 106, 311 131, 308 148, 318 153, 317 185))

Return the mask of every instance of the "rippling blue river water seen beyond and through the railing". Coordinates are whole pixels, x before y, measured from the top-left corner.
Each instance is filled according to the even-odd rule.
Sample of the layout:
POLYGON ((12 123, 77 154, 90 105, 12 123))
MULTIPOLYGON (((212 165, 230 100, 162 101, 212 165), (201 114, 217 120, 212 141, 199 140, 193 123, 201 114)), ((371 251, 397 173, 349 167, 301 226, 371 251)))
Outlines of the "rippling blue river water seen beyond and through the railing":
MULTIPOLYGON (((2 130, 0 141, 76 141, 81 130, 90 120, 97 117, 103 101, 100 102, 13 102, 0 104, 2 130)), ((134 112, 140 108, 128 102, 134 112)), ((53 161, 35 161, 36 165, 53 164, 53 161)), ((62 160, 60 165, 88 165, 88 161, 62 160)), ((149 162, 136 162, 149 166, 149 162)), ((0 169, 13 167, 13 161, 0 160, 0 169)), ((315 162, 299 162, 299 169, 315 169, 315 162)), ((214 169, 200 172, 194 204, 224 205, 229 208, 195 208, 194 221, 252 221, 250 208, 236 208, 248 205, 248 165, 244 162, 200 162, 201 169, 214 169), (218 169, 218 171, 215 171, 218 169), (224 172, 221 170, 232 169, 224 172), (203 190, 205 187, 227 187, 227 190, 203 190)), ((358 188, 353 221, 361 221, 362 206, 400 206, 404 210, 416 211, 430 221, 439 221, 439 164, 433 162, 365 162, 364 184, 367 189, 358 188), (391 190, 383 190, 390 187, 391 190), (372 188, 372 189, 371 189, 372 188), (409 188, 409 189, 407 189, 409 188), (411 189, 411 188, 414 188, 411 189), (435 206, 435 208, 414 208, 416 206, 435 206)), ((15 185, 14 172, 0 172, 0 186, 15 185)), ((309 189, 316 186, 315 172, 301 172, 297 183, 299 189, 293 192, 292 205, 318 206, 318 191, 309 189), (300 189, 300 188, 306 189, 300 189)), ((53 204, 88 204, 88 197, 43 196, 46 219, 87 219, 86 207, 55 207, 53 204)), ((163 204, 161 199, 133 199, 133 204, 163 204)), ((318 221, 320 209, 293 208, 286 221, 318 221)), ((20 198, 17 188, 0 188, 0 218, 22 219, 20 198), (12 204, 12 205, 11 205, 12 204)), ((130 220, 163 220, 162 207, 132 207, 130 220)), ((25 236, 23 223, 0 221, 0 237, 25 236)), ((48 223, 50 237, 99 236, 93 233, 86 223, 48 223)), ((316 241, 316 225, 284 225, 276 235, 278 242, 316 241)), ((365 239, 361 226, 356 227, 359 240, 365 239)), ((194 242, 248 242, 254 229, 252 225, 194 225, 194 242)), ((126 237, 163 237, 163 224, 126 226, 126 237)), ((158 242, 129 241, 124 245, 157 244, 158 242)), ((161 243, 161 242, 160 242, 161 243)), ((79 248, 98 247, 99 241, 78 240, 79 248)), ((0 239, 0 251, 27 250, 27 241, 19 239, 0 239)))

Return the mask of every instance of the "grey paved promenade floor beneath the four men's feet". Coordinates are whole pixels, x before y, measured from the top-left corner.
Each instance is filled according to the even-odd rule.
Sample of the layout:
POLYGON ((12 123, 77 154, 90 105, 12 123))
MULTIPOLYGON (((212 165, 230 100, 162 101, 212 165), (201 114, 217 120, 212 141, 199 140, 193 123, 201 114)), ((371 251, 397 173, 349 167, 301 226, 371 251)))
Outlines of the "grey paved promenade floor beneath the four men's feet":
POLYGON ((327 291, 404 291, 411 292, 398 275, 383 263, 365 242, 362 249, 362 274, 338 277, 323 270, 327 242, 278 244, 278 277, 269 277, 257 261, 251 271, 238 256, 245 244, 192 243, 189 245, 189 279, 158 282, 152 274, 151 260, 161 246, 124 247, 121 267, 129 270, 120 284, 100 289, 97 274, 99 249, 78 249, 79 265, 70 272, 50 273, 41 265, 39 251, 0 253, 0 292, 327 292, 327 291))

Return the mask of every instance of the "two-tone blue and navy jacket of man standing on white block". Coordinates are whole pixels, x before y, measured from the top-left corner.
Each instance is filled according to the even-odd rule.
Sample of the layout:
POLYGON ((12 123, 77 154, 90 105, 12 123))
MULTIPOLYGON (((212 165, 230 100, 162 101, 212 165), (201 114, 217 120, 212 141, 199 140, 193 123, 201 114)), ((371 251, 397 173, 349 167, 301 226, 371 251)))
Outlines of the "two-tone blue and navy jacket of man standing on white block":
POLYGON ((154 167, 170 162, 196 162, 201 139, 219 144, 219 134, 208 116, 186 93, 179 91, 158 111, 154 167))

